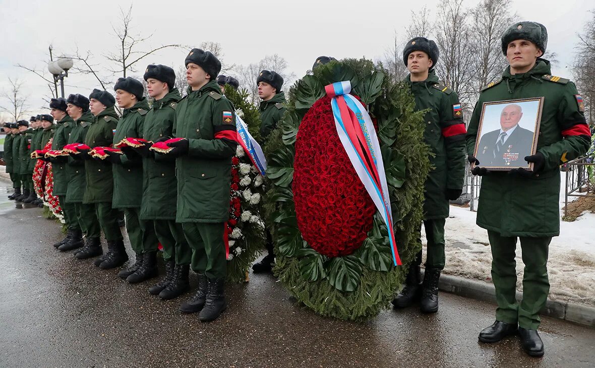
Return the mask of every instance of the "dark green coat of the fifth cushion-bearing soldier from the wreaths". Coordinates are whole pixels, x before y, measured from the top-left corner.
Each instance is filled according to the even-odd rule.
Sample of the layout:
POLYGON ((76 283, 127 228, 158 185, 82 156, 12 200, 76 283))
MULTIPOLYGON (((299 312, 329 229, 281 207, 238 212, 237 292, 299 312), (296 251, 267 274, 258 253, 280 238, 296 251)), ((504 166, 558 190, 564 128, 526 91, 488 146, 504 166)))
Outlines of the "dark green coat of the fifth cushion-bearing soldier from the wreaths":
MULTIPOLYGON (((70 131, 67 144, 84 143, 84 137, 93 121, 93 114, 85 112, 82 117, 73 122, 74 127, 70 131)), ((84 161, 68 158, 66 166, 68 176, 68 188, 66 191, 66 202, 82 203, 84 190, 87 187, 87 179, 84 171, 84 161)))

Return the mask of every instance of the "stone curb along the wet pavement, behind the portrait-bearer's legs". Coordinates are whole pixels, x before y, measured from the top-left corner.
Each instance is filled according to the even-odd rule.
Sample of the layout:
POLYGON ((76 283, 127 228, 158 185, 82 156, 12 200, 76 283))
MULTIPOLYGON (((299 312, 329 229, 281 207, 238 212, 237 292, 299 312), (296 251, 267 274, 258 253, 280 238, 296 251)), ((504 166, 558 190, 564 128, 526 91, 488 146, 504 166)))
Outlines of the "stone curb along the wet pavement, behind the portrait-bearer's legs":
MULTIPOLYGON (((422 275, 424 270, 421 270, 422 275)), ((461 276, 440 275, 438 288, 461 297, 487 301, 496 304, 496 288, 494 284, 461 276)), ((516 299, 522 299, 522 293, 516 291, 516 299)), ((595 308, 570 301, 547 299, 546 306, 541 310, 542 316, 567 320, 581 326, 595 328, 595 308)))

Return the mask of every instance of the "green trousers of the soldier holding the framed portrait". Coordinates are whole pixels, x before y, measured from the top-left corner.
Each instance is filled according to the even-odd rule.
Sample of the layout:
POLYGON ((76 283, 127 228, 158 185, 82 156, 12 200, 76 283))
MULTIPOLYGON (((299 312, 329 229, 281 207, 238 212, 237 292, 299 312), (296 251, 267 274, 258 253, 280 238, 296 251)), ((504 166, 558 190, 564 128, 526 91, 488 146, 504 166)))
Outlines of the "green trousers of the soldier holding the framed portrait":
POLYGON ((550 282, 547 278, 547 256, 552 238, 521 237, 522 301, 516 300, 516 237, 502 237, 499 232, 487 232, 491 246, 491 278, 496 287, 496 319, 516 323, 536 330, 539 312, 546 305, 550 282))

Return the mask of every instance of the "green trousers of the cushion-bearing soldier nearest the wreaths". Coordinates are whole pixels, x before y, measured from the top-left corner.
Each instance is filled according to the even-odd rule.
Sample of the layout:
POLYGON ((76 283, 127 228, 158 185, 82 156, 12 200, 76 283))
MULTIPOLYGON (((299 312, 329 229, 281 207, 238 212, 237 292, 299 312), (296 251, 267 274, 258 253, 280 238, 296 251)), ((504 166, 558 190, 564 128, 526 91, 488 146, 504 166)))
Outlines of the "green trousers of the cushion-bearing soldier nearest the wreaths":
POLYGON ((223 244, 223 222, 203 224, 184 222, 184 237, 192 249, 192 270, 205 274, 209 279, 221 279, 227 276, 227 259, 223 244))

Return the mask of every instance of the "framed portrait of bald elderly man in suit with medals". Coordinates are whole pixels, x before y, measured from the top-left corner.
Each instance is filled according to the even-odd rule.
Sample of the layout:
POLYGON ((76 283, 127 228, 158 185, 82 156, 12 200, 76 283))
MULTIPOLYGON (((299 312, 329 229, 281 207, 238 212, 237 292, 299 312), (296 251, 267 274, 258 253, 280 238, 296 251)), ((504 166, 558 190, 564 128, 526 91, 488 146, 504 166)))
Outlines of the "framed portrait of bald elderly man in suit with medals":
POLYGON ((475 140, 478 165, 490 170, 524 168, 537 150, 543 97, 484 102, 475 140))

